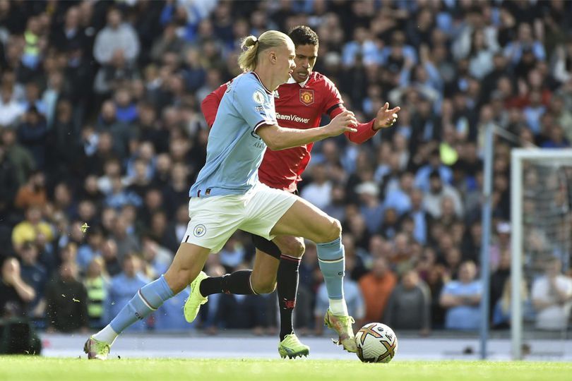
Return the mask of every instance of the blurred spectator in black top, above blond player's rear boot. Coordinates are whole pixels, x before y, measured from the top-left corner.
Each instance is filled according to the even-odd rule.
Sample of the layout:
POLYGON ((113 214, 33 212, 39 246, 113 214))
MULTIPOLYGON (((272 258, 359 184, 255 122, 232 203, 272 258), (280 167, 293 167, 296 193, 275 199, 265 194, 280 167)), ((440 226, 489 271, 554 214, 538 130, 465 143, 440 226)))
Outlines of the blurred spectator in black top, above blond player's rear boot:
POLYGON ((88 293, 78 281, 78 267, 64 262, 57 277, 46 289, 46 318, 48 332, 86 332, 88 322, 88 293))

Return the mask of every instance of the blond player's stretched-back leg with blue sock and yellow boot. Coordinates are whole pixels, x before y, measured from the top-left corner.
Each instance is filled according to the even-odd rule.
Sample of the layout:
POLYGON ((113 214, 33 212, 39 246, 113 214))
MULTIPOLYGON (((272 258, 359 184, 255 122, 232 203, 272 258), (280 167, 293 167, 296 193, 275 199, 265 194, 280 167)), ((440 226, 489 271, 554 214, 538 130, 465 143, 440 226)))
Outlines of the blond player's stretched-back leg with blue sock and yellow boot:
POLYGON ((172 296, 179 294, 205 265, 210 249, 181 243, 169 270, 143 286, 109 324, 85 343, 88 358, 105 360, 113 342, 127 327, 143 320, 172 296))

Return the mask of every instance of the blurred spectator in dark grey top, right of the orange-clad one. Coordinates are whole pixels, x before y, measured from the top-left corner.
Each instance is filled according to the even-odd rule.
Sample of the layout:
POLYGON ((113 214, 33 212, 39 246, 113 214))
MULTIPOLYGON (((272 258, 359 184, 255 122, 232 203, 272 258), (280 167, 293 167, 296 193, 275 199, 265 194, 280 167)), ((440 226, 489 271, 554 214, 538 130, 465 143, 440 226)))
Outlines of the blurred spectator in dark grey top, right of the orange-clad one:
POLYGON ((415 270, 403 274, 391 292, 383 322, 393 329, 415 329, 422 335, 431 328, 431 294, 415 270))

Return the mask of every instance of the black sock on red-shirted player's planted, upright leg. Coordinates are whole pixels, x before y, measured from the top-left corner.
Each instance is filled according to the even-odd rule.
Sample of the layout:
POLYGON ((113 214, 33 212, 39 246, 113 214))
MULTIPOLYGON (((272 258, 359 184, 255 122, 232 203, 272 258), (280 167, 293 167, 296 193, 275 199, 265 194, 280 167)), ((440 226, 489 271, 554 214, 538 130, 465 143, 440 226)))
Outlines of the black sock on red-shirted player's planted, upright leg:
POLYGON ((298 293, 298 268, 300 258, 290 255, 280 255, 278 265, 278 306, 280 307, 280 341, 287 334, 294 332, 292 325, 292 313, 296 306, 296 294, 298 293))

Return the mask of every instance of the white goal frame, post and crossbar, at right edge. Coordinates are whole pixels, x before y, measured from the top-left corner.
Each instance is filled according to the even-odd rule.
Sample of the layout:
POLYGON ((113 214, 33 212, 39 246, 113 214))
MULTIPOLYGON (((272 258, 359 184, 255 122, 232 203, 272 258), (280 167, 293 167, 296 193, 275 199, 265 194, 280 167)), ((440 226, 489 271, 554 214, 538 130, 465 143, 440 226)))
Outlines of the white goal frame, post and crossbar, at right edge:
POLYGON ((572 149, 516 148, 511 152, 511 347, 514 360, 523 358, 523 161, 566 162, 572 165, 572 149))

